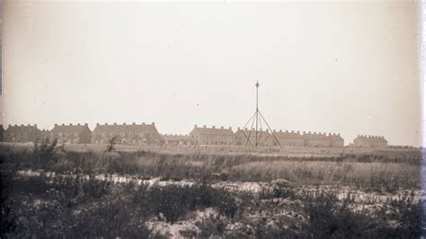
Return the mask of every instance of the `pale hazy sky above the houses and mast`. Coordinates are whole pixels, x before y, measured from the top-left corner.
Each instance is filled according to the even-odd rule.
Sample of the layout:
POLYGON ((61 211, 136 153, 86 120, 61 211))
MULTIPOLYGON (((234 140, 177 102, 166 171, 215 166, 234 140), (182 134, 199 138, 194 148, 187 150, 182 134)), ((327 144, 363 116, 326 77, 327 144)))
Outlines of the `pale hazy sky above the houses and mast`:
POLYGON ((3 6, 1 121, 271 128, 422 144, 415 2, 3 6))

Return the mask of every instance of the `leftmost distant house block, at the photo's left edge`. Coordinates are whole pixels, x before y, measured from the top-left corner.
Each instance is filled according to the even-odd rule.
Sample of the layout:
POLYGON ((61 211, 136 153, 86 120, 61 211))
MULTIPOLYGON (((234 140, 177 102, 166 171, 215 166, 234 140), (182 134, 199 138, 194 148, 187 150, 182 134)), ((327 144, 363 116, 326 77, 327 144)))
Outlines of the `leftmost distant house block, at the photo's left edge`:
POLYGON ((28 143, 35 142, 40 130, 37 125, 9 125, 4 131, 4 142, 28 143))

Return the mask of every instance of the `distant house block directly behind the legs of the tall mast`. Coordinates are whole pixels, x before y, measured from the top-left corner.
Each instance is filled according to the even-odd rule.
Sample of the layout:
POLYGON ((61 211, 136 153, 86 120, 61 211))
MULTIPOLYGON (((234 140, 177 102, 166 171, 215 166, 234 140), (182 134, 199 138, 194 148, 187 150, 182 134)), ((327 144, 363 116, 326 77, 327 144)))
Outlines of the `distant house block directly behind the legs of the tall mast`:
POLYGON ((236 146, 272 146, 275 143, 273 136, 268 129, 266 130, 250 130, 248 128, 237 128, 235 132, 236 146))

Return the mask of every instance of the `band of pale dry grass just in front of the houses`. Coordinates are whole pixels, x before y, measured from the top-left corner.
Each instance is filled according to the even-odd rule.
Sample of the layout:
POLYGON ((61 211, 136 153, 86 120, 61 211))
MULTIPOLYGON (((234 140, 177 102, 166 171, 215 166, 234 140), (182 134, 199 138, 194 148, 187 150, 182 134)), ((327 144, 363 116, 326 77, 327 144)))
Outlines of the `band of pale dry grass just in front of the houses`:
MULTIPOLYGON (((403 151, 404 153, 404 151, 403 151)), ((387 153, 386 153, 387 154, 387 153)), ((297 184, 349 185, 364 190, 415 190, 420 188, 421 157, 402 154, 289 157, 283 155, 170 154, 156 151, 75 152, 57 150, 50 155, 4 148, 0 157, 20 169, 58 173, 118 173, 165 180, 272 181, 297 184)))

